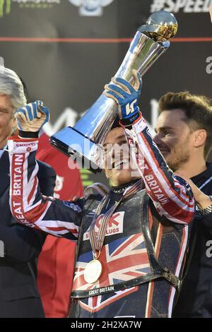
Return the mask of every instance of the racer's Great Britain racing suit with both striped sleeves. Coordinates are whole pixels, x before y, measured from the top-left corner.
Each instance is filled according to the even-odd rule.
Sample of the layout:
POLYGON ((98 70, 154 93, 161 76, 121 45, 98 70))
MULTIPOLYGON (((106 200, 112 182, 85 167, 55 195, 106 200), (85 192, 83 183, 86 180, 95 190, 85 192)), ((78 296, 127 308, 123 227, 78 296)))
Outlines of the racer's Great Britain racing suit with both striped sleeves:
MULTIPOLYGON (((142 187, 122 201, 107 224, 99 258, 102 275, 95 284, 84 279, 85 267, 93 259, 88 228, 102 196, 107 198, 104 215, 123 193, 107 193, 94 185, 102 196, 91 195, 79 203, 43 198, 36 177, 37 139, 9 141, 11 211, 16 220, 55 236, 78 239, 74 316, 172 314, 194 216, 194 198, 187 183, 167 167, 142 117, 131 129, 125 129, 125 134, 141 172, 142 187)), ((97 232, 102 215, 95 224, 97 232)))

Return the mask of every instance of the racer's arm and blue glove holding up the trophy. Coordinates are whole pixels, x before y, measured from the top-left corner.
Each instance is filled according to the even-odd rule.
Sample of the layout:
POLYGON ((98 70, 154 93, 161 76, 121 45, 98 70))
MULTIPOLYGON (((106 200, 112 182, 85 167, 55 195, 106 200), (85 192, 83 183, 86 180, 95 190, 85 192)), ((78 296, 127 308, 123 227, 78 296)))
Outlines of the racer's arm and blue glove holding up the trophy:
POLYGON ((112 78, 112 83, 105 86, 105 95, 119 105, 120 124, 155 208, 175 223, 190 223, 194 216, 192 190, 184 179, 172 174, 153 142, 137 105, 140 94, 141 76, 136 71, 134 85, 123 78, 112 78))

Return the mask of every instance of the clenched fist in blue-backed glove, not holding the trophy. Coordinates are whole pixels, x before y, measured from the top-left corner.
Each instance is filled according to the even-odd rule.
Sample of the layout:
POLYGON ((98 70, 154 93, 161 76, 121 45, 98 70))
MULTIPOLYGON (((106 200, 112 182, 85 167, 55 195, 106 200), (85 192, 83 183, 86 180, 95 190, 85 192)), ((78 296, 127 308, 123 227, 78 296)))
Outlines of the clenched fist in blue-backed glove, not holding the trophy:
POLYGON ((49 109, 40 100, 16 109, 14 115, 19 131, 35 133, 49 121, 49 109))

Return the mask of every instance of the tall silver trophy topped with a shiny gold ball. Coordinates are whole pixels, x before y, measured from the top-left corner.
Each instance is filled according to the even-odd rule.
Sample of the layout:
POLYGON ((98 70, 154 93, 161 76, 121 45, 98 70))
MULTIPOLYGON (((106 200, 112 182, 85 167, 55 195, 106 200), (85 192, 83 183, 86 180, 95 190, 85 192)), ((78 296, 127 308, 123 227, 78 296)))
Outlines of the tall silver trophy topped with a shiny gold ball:
MULTIPOLYGON (((172 13, 157 11, 141 25, 114 77, 131 82, 133 69, 143 76, 170 47, 169 39, 177 33, 177 20, 172 13)), ((80 167, 100 172, 103 167, 102 145, 117 116, 117 103, 100 95, 75 126, 61 129, 51 136, 53 146, 71 156, 80 167), (83 164, 82 164, 83 162, 83 164)))

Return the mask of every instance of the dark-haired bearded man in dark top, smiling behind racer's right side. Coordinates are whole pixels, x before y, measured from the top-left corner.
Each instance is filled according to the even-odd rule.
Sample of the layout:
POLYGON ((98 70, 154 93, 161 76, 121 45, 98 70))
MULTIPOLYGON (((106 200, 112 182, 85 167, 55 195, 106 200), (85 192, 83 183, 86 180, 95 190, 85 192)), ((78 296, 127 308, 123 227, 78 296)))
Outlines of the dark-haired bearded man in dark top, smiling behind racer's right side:
MULTIPOLYGON (((155 131, 154 141, 171 169, 212 195, 212 165, 206 162, 212 146, 211 101, 188 92, 167 93, 159 100, 155 131)), ((209 206, 201 213, 210 211, 209 206)), ((212 260, 206 254, 211 235, 212 213, 196 220, 192 237, 194 254, 175 316, 212 317, 212 260)))

